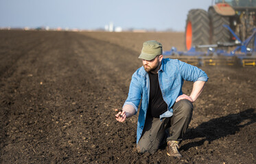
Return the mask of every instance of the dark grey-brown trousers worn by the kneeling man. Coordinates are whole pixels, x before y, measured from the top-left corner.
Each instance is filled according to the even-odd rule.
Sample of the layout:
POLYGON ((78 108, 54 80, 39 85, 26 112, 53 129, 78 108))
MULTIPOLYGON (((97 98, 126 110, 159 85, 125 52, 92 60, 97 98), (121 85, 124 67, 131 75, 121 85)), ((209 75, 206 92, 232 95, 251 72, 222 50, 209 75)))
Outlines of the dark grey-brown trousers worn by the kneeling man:
POLYGON ((159 118, 146 118, 137 151, 156 152, 164 139, 181 141, 191 121, 193 108, 189 100, 179 100, 172 107, 174 115, 171 118, 163 118, 162 121, 159 118))

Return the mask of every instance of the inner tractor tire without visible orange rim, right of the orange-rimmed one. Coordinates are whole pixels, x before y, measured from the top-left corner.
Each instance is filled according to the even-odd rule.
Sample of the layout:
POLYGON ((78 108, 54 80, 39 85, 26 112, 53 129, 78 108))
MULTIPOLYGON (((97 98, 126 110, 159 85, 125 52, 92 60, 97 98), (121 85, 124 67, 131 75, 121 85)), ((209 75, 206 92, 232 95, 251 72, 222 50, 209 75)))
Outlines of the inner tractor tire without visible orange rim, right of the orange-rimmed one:
POLYGON ((229 42, 231 33, 229 29, 223 27, 223 25, 229 25, 229 16, 221 16, 214 8, 209 8, 209 20, 210 20, 210 43, 217 44, 217 42, 229 42))

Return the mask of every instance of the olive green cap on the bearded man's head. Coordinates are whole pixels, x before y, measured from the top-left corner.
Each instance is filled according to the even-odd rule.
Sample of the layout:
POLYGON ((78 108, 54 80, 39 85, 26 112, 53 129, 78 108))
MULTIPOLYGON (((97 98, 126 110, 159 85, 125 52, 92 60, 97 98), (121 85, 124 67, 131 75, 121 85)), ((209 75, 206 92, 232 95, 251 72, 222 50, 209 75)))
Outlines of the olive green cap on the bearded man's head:
POLYGON ((148 40, 143 42, 143 47, 141 50, 141 55, 139 55, 139 59, 152 60, 157 55, 162 55, 162 44, 156 42, 156 40, 148 40))

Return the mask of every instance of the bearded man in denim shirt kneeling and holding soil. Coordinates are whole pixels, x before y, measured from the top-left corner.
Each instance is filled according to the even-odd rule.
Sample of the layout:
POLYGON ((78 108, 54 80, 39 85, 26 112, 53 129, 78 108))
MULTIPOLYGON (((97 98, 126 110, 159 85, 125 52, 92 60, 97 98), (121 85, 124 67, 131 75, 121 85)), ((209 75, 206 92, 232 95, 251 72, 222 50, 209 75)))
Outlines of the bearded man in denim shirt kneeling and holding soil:
POLYGON ((137 123, 137 151, 156 152, 167 141, 167 155, 181 158, 178 143, 192 117, 194 102, 208 80, 207 74, 178 59, 163 59, 162 45, 155 40, 143 43, 143 66, 133 75, 122 111, 115 115, 124 122, 141 109, 137 123), (183 94, 183 81, 194 81, 189 96, 183 94), (169 129, 171 128, 171 131, 169 129))

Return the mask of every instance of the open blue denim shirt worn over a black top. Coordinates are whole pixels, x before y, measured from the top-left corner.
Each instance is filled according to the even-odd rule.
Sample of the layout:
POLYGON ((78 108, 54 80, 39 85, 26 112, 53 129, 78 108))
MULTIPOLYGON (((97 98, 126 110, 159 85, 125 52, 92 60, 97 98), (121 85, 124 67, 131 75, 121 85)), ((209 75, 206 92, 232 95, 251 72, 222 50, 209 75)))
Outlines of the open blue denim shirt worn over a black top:
MULTIPOLYGON (((163 100, 167 103, 168 110, 160 115, 162 118, 170 118, 173 115, 172 106, 178 96, 183 94, 183 81, 207 81, 207 74, 197 68, 179 61, 178 59, 163 59, 161 68, 158 71, 159 86, 163 95, 163 100)), ((143 66, 132 74, 128 98, 124 105, 132 105, 137 113, 139 103, 141 108, 137 123, 137 143, 141 138, 143 127, 146 120, 150 96, 150 80, 149 75, 143 66)))

